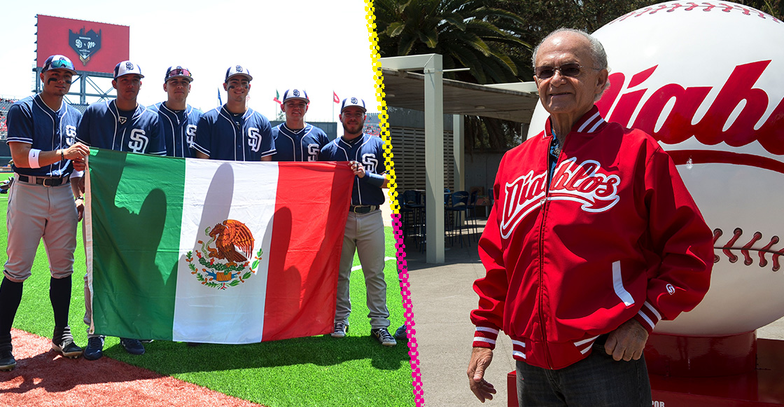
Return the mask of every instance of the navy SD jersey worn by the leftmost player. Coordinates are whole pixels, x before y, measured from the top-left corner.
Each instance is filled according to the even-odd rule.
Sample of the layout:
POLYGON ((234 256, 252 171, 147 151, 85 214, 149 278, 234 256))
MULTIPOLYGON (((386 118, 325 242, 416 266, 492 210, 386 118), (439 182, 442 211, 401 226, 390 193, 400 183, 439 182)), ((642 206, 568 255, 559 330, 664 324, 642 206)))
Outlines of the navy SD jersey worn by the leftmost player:
MULTIPOLYGON (((31 144, 41 151, 55 151, 70 147, 76 141, 76 132, 82 113, 63 102, 59 111, 46 106, 41 95, 27 96, 17 101, 8 111, 8 139, 31 144)), ((15 173, 27 176, 70 176, 74 166, 71 160, 55 162, 41 168, 20 168, 11 165, 15 173)))

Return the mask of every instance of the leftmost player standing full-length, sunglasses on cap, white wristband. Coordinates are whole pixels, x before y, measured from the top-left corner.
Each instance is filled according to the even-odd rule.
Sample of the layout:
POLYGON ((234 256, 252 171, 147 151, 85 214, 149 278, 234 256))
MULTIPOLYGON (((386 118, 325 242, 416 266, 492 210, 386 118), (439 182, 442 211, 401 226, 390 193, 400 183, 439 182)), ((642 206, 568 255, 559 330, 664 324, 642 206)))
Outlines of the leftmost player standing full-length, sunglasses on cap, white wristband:
POLYGON ((81 176, 74 167, 83 170, 89 154, 87 146, 74 140, 82 114, 63 102, 74 74, 66 56, 49 56, 40 74, 42 92, 16 102, 8 112, 7 142, 16 180, 9 191, 8 261, 0 284, 0 370, 16 367, 11 325, 42 238, 52 274, 52 349, 67 358, 82 354, 68 326, 76 223, 84 210, 78 182, 71 183, 71 176, 81 176))

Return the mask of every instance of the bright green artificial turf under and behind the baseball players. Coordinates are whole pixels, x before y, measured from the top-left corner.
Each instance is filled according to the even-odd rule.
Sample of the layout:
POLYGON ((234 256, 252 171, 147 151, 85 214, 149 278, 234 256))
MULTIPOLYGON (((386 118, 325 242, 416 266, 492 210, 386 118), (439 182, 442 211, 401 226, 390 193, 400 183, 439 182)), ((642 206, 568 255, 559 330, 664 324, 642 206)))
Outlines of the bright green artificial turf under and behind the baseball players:
MULTIPOLYGON (((0 174, 0 181, 8 176, 0 174)), ((0 194, 2 220, 5 220, 7 205, 8 195, 0 194)), ((385 229, 387 257, 394 257, 394 234, 390 227, 385 229)), ((81 235, 79 231, 78 236, 81 235)), ((5 253, 6 236, 3 234, 0 240, 0 253, 5 253)), ((81 238, 78 238, 75 257, 69 322, 76 343, 84 347, 87 343, 86 325, 82 322, 85 253, 81 238)), ((2 256, 3 263, 5 260, 2 256)), ((354 264, 359 265, 356 256, 354 264)), ((33 275, 24 283, 14 328, 52 336, 48 269, 46 254, 40 245, 33 275)), ((405 322, 394 260, 387 260, 385 274, 387 307, 392 323, 390 333, 394 333, 394 329, 405 322)), ((156 340, 146 345, 146 354, 134 356, 122 349, 117 338, 108 337, 104 355, 270 407, 414 405, 407 343, 382 347, 369 336, 365 281, 361 271, 351 274, 351 305, 350 330, 343 339, 312 336, 247 345, 204 344, 198 347, 156 340)))

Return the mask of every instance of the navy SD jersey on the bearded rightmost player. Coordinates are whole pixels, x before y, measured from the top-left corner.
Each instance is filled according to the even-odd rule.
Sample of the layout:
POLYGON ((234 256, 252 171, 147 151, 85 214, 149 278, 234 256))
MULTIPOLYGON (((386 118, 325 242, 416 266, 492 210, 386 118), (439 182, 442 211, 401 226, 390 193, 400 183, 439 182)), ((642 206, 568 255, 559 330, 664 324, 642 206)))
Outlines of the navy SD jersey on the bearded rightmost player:
MULTIPOLYGON (((354 140, 343 137, 332 140, 321 149, 321 161, 356 161, 365 166, 365 172, 387 173, 384 162, 384 142, 380 137, 362 134, 354 140)), ((382 205, 384 192, 380 187, 368 184, 368 178, 354 176, 354 191, 351 191, 351 205, 382 205)))

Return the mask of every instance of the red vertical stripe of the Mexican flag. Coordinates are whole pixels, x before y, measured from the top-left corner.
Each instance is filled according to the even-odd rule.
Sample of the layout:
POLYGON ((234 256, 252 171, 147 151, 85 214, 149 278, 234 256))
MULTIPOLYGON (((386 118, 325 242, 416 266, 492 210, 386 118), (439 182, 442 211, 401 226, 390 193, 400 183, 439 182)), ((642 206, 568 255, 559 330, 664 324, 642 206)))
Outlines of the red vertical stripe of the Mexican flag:
POLYGON ((278 163, 263 340, 332 332, 353 180, 343 162, 278 163))

